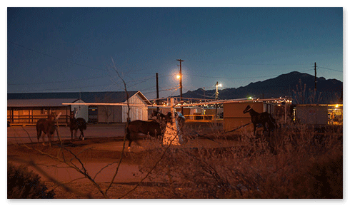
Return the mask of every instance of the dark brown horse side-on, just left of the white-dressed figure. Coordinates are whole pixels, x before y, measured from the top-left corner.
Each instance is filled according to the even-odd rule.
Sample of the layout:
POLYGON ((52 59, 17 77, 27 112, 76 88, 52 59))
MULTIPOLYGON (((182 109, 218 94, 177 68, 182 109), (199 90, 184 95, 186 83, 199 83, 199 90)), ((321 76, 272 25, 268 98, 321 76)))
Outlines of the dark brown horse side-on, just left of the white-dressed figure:
POLYGON ((163 126, 161 123, 151 120, 151 121, 143 121, 143 120, 134 120, 131 121, 126 127, 126 139, 129 140, 128 149, 130 150, 131 142, 136 141, 139 133, 144 135, 151 136, 159 136, 163 133, 163 126))

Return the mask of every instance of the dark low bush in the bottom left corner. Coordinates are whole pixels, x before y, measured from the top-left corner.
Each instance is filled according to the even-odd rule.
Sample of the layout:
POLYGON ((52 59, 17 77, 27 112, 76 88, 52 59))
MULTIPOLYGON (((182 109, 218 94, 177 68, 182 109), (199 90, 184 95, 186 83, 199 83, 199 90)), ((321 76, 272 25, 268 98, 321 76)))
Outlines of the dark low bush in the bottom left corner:
POLYGON ((7 163, 7 198, 8 199, 43 199, 54 198, 54 191, 50 190, 40 177, 29 172, 23 165, 16 167, 7 163))

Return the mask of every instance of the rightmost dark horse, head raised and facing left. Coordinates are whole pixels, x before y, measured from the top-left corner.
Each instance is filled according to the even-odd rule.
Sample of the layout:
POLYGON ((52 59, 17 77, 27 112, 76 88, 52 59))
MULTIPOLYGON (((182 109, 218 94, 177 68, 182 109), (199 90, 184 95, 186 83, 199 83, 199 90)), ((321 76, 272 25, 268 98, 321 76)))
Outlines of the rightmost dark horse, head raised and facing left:
POLYGON ((266 123, 269 125, 269 136, 271 134, 271 129, 276 128, 276 120, 272 117, 270 113, 258 113, 250 105, 247 105, 243 113, 249 113, 251 115, 251 123, 254 125, 254 135, 256 135, 256 125, 262 124, 264 126, 264 131, 266 131, 266 123))

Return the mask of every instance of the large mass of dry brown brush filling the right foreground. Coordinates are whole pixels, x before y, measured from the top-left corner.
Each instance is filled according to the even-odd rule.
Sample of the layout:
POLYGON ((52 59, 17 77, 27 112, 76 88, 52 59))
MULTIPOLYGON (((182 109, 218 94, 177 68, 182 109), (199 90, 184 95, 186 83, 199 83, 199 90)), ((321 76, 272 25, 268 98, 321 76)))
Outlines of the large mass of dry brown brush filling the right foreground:
MULTIPOLYGON (((244 146, 174 146, 148 181, 158 182, 168 198, 342 198, 338 136, 328 133, 320 140, 314 128, 289 124, 271 138, 243 133, 239 145, 244 146)), ((149 172, 164 150, 144 153, 140 171, 149 172)))

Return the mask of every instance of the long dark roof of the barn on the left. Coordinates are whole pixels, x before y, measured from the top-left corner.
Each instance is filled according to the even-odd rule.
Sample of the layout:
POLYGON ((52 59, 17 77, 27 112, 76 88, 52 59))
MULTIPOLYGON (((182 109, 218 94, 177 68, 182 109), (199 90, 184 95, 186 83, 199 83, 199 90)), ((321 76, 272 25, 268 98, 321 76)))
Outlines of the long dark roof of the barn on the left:
MULTIPOLYGON (((146 104, 151 104, 140 91, 129 91, 129 97, 139 94, 146 104)), ((7 93, 7 100, 48 100, 48 99, 81 99, 85 103, 124 103, 126 93, 124 91, 105 92, 64 92, 64 93, 7 93)), ((71 101, 70 101, 71 102, 71 101)), ((66 101, 66 103, 70 103, 66 101)))

